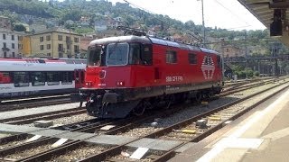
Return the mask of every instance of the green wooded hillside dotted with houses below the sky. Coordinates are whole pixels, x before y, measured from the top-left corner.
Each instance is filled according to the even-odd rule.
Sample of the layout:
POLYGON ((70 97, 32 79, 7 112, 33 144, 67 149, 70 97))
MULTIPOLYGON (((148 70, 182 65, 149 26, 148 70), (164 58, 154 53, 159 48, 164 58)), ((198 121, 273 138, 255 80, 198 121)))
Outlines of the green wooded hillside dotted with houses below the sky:
MULTIPOLYGON (((58 24, 56 25, 64 25, 79 33, 94 31, 96 23, 107 22, 110 19, 121 17, 124 25, 144 30, 153 29, 155 34, 161 37, 175 36, 181 39, 186 38, 186 42, 201 40, 200 32, 202 26, 196 25, 192 21, 182 23, 167 15, 150 14, 141 9, 133 8, 129 4, 117 3, 113 5, 105 0, 65 0, 63 2, 56 0, 45 0, 44 2, 37 0, 1 0, 0 11, 5 16, 10 17, 13 23, 21 23, 20 14, 29 14, 44 19, 57 20, 58 24), (88 26, 79 27, 76 22, 81 17, 89 18, 88 26), (196 39, 195 37, 198 37, 198 35, 199 38, 196 39)), ((47 26, 52 27, 51 24, 47 24, 47 26)), ((208 37, 214 38, 208 39, 208 43, 224 40, 226 44, 238 47, 245 47, 250 44, 250 46, 264 47, 268 49, 266 54, 270 54, 268 47, 272 40, 268 40, 267 30, 228 31, 217 27, 214 29, 207 27, 206 33, 208 37)), ((212 43, 209 46, 214 48, 216 44, 212 43)))

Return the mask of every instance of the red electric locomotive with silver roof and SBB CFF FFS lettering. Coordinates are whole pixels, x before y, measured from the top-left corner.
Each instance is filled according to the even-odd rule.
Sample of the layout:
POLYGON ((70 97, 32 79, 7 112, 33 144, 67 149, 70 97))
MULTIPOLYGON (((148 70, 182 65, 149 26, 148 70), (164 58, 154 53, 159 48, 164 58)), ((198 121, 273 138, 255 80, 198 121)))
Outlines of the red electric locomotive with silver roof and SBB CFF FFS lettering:
POLYGON ((79 93, 87 98, 89 115, 124 118, 220 93, 222 64, 216 51, 144 35, 90 42, 79 93))

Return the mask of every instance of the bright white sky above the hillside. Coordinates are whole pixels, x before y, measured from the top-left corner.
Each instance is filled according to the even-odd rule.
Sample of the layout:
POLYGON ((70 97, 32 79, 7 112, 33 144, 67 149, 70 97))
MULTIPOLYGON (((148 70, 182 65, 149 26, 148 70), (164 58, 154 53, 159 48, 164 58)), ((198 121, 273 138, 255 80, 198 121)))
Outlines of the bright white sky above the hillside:
MULTIPOLYGON (((108 0, 125 3, 124 0, 108 0)), ((127 0, 150 11, 180 20, 202 24, 201 0, 127 0)), ((134 5, 131 5, 135 7, 134 5)), ((238 0, 203 0, 206 27, 228 29, 229 31, 264 30, 266 27, 238 2, 238 0)))

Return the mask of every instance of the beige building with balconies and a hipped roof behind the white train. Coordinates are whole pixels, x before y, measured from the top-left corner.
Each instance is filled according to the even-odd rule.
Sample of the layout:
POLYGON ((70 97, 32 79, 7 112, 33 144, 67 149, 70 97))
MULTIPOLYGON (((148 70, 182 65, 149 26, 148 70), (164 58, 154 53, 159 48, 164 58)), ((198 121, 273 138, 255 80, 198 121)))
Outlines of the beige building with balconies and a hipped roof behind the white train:
POLYGON ((59 27, 30 35, 31 56, 75 58, 79 54, 81 35, 59 27))

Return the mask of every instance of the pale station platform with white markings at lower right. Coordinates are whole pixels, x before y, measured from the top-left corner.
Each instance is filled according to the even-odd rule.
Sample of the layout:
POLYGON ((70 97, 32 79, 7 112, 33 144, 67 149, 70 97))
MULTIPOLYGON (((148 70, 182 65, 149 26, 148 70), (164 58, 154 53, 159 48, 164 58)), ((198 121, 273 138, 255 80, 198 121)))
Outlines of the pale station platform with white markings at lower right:
POLYGON ((195 143, 170 162, 289 161, 289 89, 195 143))

